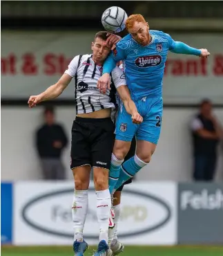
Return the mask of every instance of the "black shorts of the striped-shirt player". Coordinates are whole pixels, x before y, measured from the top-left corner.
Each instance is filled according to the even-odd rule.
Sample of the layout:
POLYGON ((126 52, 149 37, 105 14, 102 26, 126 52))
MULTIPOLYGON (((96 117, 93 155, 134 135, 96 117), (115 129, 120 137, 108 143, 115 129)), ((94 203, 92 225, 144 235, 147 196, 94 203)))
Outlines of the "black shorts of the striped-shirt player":
POLYGON ((79 118, 72 124, 70 168, 81 165, 110 169, 114 124, 110 118, 79 118))

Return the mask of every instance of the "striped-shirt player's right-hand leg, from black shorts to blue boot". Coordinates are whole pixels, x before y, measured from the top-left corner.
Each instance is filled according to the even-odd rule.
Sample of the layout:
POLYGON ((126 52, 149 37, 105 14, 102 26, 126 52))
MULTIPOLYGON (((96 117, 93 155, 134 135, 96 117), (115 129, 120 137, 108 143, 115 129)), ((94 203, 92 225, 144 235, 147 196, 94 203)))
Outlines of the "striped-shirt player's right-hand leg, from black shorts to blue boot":
POLYGON ((95 134, 90 140, 91 154, 94 169, 94 183, 97 194, 97 219, 99 222, 99 244, 94 255, 112 255, 108 248, 108 222, 110 217, 111 199, 108 189, 108 172, 110 155, 113 150, 114 125, 110 118, 97 120, 95 134))

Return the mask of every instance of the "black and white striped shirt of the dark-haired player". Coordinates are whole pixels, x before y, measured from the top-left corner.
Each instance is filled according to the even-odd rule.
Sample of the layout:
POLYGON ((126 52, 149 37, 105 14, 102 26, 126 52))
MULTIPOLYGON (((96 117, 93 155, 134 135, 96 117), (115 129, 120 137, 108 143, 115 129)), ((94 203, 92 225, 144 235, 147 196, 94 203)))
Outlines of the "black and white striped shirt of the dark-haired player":
POLYGON ((97 89, 97 81, 102 74, 102 66, 98 66, 92 59, 92 55, 77 55, 70 62, 66 74, 75 77, 75 101, 76 111, 90 113, 100 109, 116 107, 116 89, 126 85, 126 77, 119 67, 111 72, 111 90, 105 94, 97 89))

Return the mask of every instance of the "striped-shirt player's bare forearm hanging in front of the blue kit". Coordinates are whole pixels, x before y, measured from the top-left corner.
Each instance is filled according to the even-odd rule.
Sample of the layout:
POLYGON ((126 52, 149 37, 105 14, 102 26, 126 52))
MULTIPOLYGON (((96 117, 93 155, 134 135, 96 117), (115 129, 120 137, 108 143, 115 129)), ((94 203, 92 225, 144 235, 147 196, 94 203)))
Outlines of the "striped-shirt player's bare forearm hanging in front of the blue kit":
POLYGON ((128 86, 121 85, 117 88, 117 92, 126 108, 126 111, 132 116, 133 123, 140 124, 143 121, 142 116, 140 116, 139 112, 137 111, 137 107, 135 103, 130 97, 130 93, 128 90, 128 86))

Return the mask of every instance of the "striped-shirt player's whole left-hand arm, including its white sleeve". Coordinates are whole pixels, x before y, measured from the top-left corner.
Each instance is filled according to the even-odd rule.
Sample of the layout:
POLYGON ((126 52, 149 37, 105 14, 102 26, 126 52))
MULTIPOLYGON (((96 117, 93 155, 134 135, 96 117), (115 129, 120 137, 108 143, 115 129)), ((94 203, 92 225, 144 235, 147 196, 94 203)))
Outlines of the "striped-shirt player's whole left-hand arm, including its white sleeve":
POLYGON ((40 93, 39 95, 32 95, 30 96, 28 100, 28 105, 30 108, 35 107, 40 102, 46 101, 46 100, 53 100, 66 89, 68 84, 70 84, 70 81, 72 80, 72 77, 75 76, 77 71, 77 65, 78 65, 79 56, 74 57, 74 59, 70 62, 68 69, 65 71, 64 75, 61 76, 61 78, 58 80, 56 84, 51 85, 46 89, 46 91, 43 91, 43 93, 40 93))

